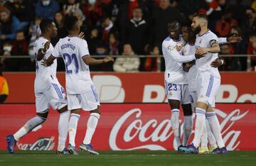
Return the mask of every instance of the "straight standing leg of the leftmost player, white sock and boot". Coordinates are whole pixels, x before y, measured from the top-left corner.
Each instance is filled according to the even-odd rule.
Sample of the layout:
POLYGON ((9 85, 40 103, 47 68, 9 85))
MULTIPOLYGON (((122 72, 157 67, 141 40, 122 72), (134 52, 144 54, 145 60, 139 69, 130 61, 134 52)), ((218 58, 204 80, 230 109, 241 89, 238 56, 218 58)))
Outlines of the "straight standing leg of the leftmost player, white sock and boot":
POLYGON ((60 113, 60 118, 58 121, 58 155, 68 154, 68 150, 65 148, 65 142, 68 136, 68 120, 70 118, 70 111, 68 111, 68 106, 63 106, 63 108, 57 110, 60 113))

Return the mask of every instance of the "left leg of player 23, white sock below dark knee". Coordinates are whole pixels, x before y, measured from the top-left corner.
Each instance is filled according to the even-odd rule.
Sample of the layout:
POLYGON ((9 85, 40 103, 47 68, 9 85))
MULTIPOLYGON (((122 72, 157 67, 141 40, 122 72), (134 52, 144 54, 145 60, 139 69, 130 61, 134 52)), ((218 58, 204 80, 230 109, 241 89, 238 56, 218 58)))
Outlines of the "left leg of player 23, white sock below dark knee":
POLYGON ((177 147, 181 147, 181 126, 179 123, 180 114, 180 101, 169 99, 169 104, 171 106, 171 128, 174 131, 174 138, 177 143, 177 147))

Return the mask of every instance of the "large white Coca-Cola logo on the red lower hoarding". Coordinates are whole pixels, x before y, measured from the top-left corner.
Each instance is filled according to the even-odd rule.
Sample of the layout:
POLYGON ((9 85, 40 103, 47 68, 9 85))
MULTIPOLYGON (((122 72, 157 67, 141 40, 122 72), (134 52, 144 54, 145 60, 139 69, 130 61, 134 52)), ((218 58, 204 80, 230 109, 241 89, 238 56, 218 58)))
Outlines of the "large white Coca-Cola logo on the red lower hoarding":
MULTIPOLYGON (((238 147, 240 144, 239 135, 241 134, 241 131, 230 130, 230 128, 234 126, 236 121, 244 118, 248 112, 249 110, 241 112, 240 109, 235 109, 230 114, 225 114, 224 111, 216 109, 218 118, 223 118, 220 127, 223 140, 228 143, 226 144, 228 150, 235 150, 238 147)), ((183 123, 181 123, 181 128, 183 128, 183 123)), ((177 145, 173 137, 170 119, 157 121, 156 118, 151 118, 143 123, 142 110, 136 108, 127 111, 114 124, 110 131, 109 145, 112 150, 167 150, 164 145, 160 144, 172 139, 173 147, 176 149, 177 145), (128 119, 130 121, 131 118, 132 122, 127 125, 128 119), (117 140, 122 141, 122 143, 117 140), (139 145, 134 145, 134 140, 139 140, 139 145), (125 145, 125 147, 129 146, 129 148, 122 148, 117 143, 125 145)))

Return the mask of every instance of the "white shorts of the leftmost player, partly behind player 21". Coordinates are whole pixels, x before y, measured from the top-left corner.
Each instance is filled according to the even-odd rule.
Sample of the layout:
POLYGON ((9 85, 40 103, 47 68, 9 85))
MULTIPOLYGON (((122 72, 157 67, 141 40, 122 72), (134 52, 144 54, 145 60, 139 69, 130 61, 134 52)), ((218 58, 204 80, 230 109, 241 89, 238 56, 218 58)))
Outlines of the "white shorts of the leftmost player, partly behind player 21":
POLYGON ((35 96, 37 113, 46 113, 50 106, 56 110, 68 104, 65 89, 58 81, 52 82, 46 92, 35 93, 35 96))

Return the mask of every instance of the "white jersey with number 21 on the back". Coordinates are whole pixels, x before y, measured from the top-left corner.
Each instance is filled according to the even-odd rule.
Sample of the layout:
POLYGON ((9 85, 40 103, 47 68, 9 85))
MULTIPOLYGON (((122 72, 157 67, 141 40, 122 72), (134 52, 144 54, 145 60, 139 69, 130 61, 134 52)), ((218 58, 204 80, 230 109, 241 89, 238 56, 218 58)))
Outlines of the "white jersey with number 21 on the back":
POLYGON ((91 90, 89 66, 82 60, 82 57, 90 56, 86 40, 75 36, 62 38, 55 45, 52 55, 63 57, 68 94, 82 94, 91 90))

